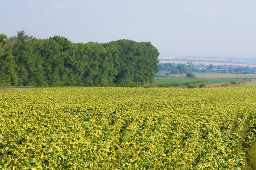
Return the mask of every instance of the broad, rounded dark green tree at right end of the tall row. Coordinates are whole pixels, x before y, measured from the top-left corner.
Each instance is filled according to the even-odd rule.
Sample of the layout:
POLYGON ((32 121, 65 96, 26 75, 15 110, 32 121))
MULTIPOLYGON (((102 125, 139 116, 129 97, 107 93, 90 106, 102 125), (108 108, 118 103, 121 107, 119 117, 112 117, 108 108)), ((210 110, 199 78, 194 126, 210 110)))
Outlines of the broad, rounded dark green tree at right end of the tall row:
POLYGON ((115 83, 153 83, 158 71, 158 50, 150 42, 118 40, 111 42, 119 50, 119 67, 115 83))

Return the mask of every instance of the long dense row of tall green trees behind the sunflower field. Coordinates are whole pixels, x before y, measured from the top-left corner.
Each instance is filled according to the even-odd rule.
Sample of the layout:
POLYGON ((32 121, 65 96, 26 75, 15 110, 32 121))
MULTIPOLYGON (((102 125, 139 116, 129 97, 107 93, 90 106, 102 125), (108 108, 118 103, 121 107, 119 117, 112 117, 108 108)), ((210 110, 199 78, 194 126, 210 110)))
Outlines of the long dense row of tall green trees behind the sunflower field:
POLYGON ((158 50, 150 42, 73 43, 0 33, 0 86, 132 86, 154 82, 158 50))

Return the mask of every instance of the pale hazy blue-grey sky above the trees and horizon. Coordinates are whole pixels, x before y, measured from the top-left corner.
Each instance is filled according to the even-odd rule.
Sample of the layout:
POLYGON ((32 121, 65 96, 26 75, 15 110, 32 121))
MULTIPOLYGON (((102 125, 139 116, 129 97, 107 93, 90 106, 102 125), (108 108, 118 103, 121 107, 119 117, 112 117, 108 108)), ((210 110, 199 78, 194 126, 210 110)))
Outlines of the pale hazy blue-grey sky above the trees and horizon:
POLYGON ((0 33, 150 41, 160 56, 256 58, 256 0, 0 0, 0 33))

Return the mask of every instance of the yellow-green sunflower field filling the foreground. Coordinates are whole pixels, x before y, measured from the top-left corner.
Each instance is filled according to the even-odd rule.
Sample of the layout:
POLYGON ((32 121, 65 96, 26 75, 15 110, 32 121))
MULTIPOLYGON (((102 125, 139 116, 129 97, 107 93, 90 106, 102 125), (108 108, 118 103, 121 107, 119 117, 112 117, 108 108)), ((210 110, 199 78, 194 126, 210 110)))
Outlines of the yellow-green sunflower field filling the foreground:
POLYGON ((255 84, 0 92, 6 169, 240 169, 256 135, 255 84))

